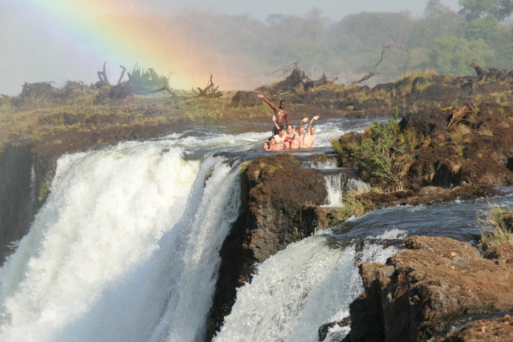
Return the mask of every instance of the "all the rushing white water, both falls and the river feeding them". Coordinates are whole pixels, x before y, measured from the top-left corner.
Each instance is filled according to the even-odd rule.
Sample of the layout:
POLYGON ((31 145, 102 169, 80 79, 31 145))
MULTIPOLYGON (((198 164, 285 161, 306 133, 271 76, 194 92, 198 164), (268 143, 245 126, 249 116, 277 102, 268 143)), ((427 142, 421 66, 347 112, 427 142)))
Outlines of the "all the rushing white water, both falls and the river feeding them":
MULTIPOLYGON (((324 153, 331 138, 369 121, 316 124, 313 152, 324 153)), ((45 205, 0 269, 0 340, 202 340, 219 250, 240 211, 239 164, 263 153, 268 126, 192 127, 62 156, 45 205)), ((329 171, 328 206, 368 186, 304 159, 304 167, 329 171)), ((383 262, 398 251, 368 243, 359 255, 357 239, 472 241, 477 215, 491 205, 512 208, 513 199, 377 210, 293 243, 238 290, 214 340, 318 340, 318 328, 346 317, 362 291, 356 260, 383 262)), ((345 333, 332 329, 326 340, 345 333)))

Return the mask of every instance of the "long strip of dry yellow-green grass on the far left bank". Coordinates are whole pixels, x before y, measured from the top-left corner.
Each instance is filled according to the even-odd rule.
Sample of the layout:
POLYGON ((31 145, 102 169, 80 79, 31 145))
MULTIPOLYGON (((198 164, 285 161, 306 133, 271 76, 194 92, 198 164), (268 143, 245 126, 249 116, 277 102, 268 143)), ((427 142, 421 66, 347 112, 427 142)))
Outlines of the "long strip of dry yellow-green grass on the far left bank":
MULTIPOLYGON (((9 141, 43 141, 49 135, 64 131, 211 122, 241 117, 242 110, 243 120, 269 119, 267 105, 232 108, 234 93, 231 92, 215 99, 183 92, 177 93, 174 100, 169 93, 163 92, 146 96, 133 94, 126 99, 107 99, 101 105, 93 105, 96 94, 95 89, 76 90, 65 100, 54 104, 48 101, 20 103, 20 97, 0 98, 0 150, 9 141)), ((290 108, 293 110, 293 106, 290 108)))

